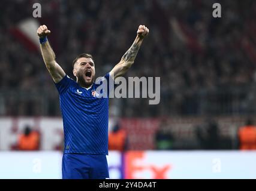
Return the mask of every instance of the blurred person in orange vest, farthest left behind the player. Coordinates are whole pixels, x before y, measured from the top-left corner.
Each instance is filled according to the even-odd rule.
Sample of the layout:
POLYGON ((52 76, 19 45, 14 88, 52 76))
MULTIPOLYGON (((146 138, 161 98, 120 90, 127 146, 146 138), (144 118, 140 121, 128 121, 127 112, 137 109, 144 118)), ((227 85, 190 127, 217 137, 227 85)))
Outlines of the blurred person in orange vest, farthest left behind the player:
POLYGON ((19 150, 38 150, 40 143, 40 135, 37 131, 31 130, 31 127, 26 125, 22 134, 19 135, 18 149, 19 150))

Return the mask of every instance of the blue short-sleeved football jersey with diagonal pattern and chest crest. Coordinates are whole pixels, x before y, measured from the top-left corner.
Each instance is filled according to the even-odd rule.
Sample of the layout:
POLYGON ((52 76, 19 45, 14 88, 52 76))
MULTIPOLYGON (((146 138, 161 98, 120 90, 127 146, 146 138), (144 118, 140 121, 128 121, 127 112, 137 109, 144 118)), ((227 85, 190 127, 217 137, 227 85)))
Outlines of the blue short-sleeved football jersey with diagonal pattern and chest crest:
MULTIPOLYGON (((109 85, 109 73, 104 78, 109 85)), ((108 155, 109 98, 98 97, 100 84, 87 90, 66 75, 55 85, 64 125, 64 153, 108 155)))

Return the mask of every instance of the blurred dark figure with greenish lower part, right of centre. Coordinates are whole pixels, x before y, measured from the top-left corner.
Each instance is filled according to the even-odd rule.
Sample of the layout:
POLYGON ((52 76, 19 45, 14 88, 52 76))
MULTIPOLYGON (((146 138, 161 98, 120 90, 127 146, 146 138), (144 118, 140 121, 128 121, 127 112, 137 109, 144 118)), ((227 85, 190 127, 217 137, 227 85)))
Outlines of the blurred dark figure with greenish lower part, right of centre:
POLYGON ((167 122, 163 121, 155 133, 155 149, 168 150, 173 149, 173 135, 167 127, 167 122))

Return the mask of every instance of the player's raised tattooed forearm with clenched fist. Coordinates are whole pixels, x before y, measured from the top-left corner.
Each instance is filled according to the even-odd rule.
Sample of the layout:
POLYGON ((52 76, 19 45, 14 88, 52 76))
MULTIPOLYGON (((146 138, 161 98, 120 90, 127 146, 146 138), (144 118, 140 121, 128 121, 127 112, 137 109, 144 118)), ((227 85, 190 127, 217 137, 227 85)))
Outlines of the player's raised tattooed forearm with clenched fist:
POLYGON ((143 42, 143 38, 147 36, 148 33, 149 29, 147 29, 146 26, 140 25, 138 27, 137 36, 133 44, 124 56, 122 56, 121 61, 119 61, 119 63, 110 71, 110 76, 112 76, 112 78, 115 79, 122 76, 128 71, 129 67, 134 63, 135 57, 137 56, 138 50, 143 42))

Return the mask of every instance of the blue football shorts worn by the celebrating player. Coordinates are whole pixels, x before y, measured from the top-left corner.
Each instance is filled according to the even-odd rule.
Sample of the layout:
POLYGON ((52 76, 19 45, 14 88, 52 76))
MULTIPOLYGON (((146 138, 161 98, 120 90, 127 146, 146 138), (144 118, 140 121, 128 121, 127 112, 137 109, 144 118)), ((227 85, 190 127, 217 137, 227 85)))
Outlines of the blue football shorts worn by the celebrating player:
POLYGON ((62 158, 63 179, 106 179, 109 167, 106 155, 64 153, 62 158))

